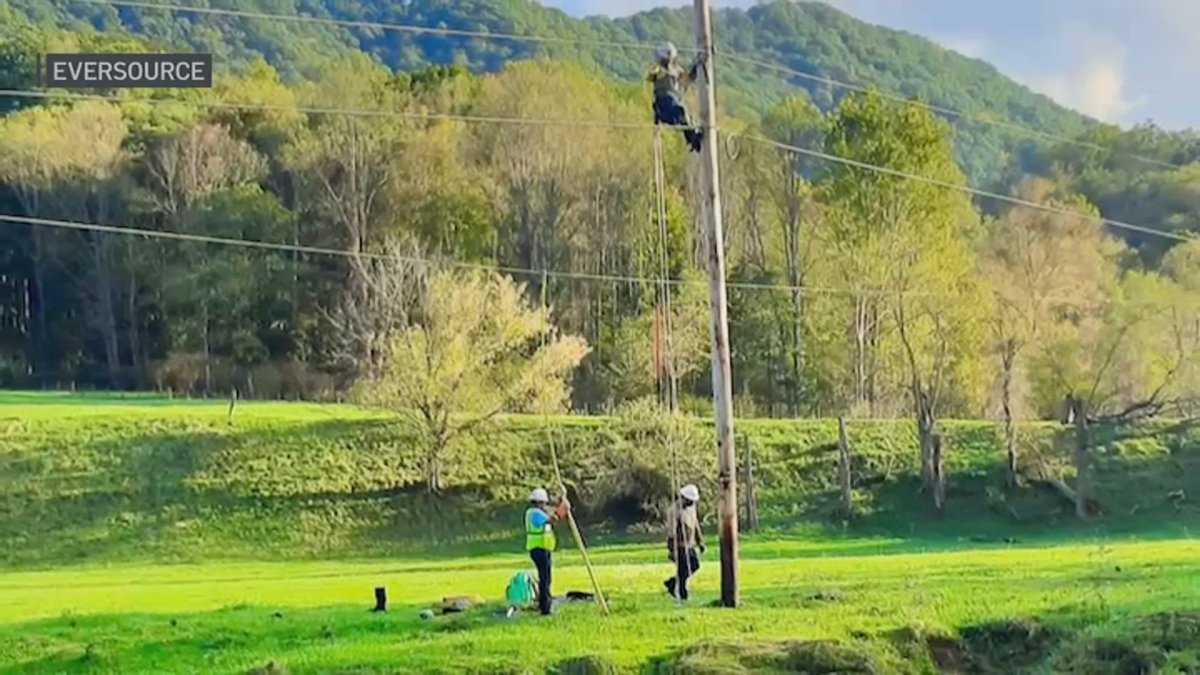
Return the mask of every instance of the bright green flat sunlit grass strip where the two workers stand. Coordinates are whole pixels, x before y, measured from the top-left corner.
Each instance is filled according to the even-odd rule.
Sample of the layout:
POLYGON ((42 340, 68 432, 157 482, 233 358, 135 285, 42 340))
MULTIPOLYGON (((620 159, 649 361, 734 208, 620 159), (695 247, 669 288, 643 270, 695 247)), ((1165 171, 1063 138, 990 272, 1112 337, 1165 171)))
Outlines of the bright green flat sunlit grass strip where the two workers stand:
MULTIPOLYGON (((995 620, 1121 626, 1200 608, 1194 540, 1074 543, 896 555, 814 555, 818 542, 744 546, 744 607, 716 598, 713 551, 690 607, 661 587, 649 548, 596 551, 613 615, 595 605, 551 619, 496 615, 521 555, 398 562, 257 562, 0 573, 0 670, 20 673, 544 673, 604 656, 622 669, 704 640, 874 640, 905 627, 955 634, 995 620), (368 613, 386 585, 388 615, 368 613), (422 621, 443 596, 492 605, 422 621)), ((830 550, 836 550, 830 548, 830 550)), ((588 590, 562 551, 556 591, 588 590)))

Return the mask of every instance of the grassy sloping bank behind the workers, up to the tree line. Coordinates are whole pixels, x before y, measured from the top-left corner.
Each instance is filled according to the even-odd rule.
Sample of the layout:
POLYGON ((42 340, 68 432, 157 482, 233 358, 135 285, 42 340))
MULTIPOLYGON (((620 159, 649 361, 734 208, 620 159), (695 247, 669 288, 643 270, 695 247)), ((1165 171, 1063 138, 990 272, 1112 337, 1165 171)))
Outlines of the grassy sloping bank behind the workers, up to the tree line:
MULTIPOLYGON (((448 488, 422 488, 420 448, 385 416, 342 406, 248 404, 230 423, 223 402, 7 394, 0 405, 0 563, 326 558, 506 550, 524 491, 548 483, 548 438, 588 532, 646 538, 670 492, 667 440, 679 478, 706 494, 709 422, 514 417, 460 446, 448 488)), ((755 456, 768 539, 845 537, 844 552, 940 548, 954 540, 1036 543, 1097 533, 1159 536, 1194 527, 1184 497, 1200 490, 1200 438, 1098 430, 1097 500, 1080 526, 1070 504, 1036 482, 1003 489, 1002 453, 986 423, 949 422, 947 515, 918 494, 914 431, 902 422, 852 422, 856 512, 836 518, 836 425, 739 420, 755 456), (864 538, 880 538, 869 543, 864 538), (892 542, 884 546, 882 542, 892 542)), ((1024 431, 1022 472, 1061 471, 1055 425, 1024 431)), ((709 524, 712 527, 712 524, 709 524)))

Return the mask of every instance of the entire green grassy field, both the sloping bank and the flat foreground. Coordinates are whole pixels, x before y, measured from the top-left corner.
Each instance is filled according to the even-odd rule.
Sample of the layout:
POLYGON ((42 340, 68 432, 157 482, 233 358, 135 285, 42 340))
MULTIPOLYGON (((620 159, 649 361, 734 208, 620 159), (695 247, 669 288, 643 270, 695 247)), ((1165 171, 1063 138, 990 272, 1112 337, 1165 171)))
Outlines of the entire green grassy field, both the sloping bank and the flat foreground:
MULTIPOLYGON (((512 495, 544 480, 545 420, 490 429, 462 450, 482 468, 463 462, 430 497, 403 485, 414 455, 385 416, 227 412, 0 394, 0 673, 1200 673, 1194 435, 1099 432, 1105 513, 1079 525, 1054 495, 997 488, 990 425, 943 428, 938 516, 916 494, 910 430, 852 423, 860 515, 844 526, 827 510, 833 426, 745 422, 767 526, 744 539, 742 609, 709 607, 712 551, 676 608, 661 544, 593 504, 613 616, 578 604, 506 621, 496 603, 529 567, 512 495), (367 611, 377 585, 386 615, 367 611), (493 604, 419 619, 451 595, 493 604)), ((587 494, 662 454, 638 422, 553 423, 587 494)), ((706 426, 685 468, 710 461, 706 426)), ((1026 429, 1022 461, 1056 461, 1056 434, 1026 429)), ((588 590, 575 551, 556 572, 558 592, 588 590)))

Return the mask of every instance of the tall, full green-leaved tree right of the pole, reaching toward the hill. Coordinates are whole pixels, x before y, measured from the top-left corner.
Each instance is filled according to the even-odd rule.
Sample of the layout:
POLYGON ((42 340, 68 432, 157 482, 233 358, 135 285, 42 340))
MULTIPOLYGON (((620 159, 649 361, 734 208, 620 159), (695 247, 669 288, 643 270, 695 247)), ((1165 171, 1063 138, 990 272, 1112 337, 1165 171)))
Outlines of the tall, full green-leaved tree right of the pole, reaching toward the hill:
MULTIPOLYGON (((926 109, 847 97, 834 118, 836 155, 965 184, 948 130, 926 109)), ((920 438, 922 477, 934 479, 935 425, 947 393, 970 404, 978 378, 980 292, 971 238, 978 219, 956 190, 869 172, 833 171, 827 197, 830 239, 845 283, 854 289, 854 400, 875 404, 875 359, 883 322, 894 325, 920 438)))

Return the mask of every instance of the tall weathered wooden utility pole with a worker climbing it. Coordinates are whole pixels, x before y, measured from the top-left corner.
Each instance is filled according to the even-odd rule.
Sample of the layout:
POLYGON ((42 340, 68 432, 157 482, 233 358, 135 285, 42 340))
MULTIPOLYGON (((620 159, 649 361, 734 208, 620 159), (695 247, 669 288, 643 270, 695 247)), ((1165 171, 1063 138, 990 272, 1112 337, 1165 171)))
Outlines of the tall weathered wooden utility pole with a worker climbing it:
POLYGON ((713 71, 713 7, 695 0, 696 47, 703 59, 700 80, 701 213, 708 226, 708 294, 713 313, 713 407, 716 412, 718 485, 720 498, 721 604, 738 607, 738 460, 733 449, 733 387, 730 372, 730 321, 725 293, 725 233, 721 226, 721 180, 718 169, 716 82, 713 71))

